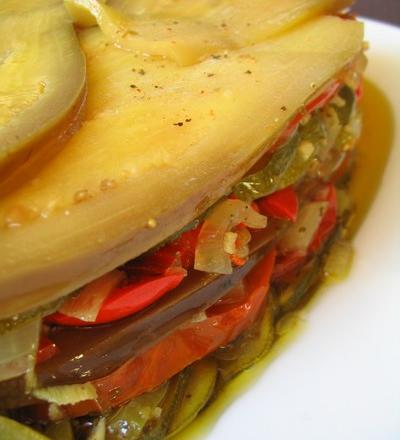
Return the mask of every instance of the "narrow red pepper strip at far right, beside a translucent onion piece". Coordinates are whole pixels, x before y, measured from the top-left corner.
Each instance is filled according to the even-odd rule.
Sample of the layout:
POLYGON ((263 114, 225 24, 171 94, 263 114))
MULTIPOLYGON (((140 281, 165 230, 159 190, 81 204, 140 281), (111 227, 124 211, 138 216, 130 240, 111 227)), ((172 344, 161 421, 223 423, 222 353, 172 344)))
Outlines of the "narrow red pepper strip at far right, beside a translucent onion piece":
POLYGON ((326 184, 325 188, 318 192, 315 200, 327 201, 328 207, 308 247, 309 252, 317 252, 336 225, 338 207, 335 186, 332 183, 326 184))

